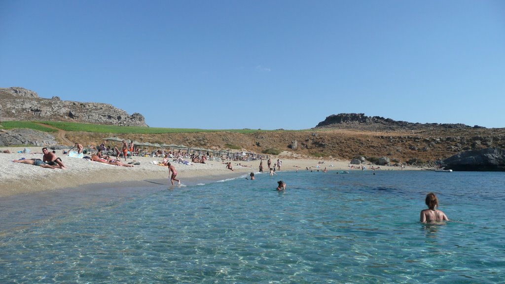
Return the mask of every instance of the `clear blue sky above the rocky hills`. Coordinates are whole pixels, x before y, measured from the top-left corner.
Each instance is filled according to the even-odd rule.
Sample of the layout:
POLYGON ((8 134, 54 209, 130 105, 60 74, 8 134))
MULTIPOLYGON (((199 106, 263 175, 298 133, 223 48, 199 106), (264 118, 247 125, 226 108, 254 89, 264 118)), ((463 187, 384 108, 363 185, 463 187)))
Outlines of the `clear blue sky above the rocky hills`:
POLYGON ((152 127, 505 127, 503 1, 0 0, 0 87, 152 127))

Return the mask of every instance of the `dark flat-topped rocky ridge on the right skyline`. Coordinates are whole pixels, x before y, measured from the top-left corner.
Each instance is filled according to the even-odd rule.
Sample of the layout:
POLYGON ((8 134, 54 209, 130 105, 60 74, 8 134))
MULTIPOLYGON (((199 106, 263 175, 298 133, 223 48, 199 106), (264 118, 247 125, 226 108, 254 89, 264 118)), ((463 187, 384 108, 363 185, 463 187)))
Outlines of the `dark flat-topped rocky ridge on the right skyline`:
POLYGON ((319 122, 316 128, 345 128, 345 129, 355 129, 355 130, 416 130, 416 129, 448 129, 448 128, 460 128, 460 129, 471 129, 471 128, 485 128, 482 126, 475 125, 474 127, 457 123, 457 124, 447 124, 447 123, 412 123, 406 121, 396 121, 390 118, 384 118, 380 116, 366 116, 363 113, 341 113, 333 114, 324 121, 319 122))

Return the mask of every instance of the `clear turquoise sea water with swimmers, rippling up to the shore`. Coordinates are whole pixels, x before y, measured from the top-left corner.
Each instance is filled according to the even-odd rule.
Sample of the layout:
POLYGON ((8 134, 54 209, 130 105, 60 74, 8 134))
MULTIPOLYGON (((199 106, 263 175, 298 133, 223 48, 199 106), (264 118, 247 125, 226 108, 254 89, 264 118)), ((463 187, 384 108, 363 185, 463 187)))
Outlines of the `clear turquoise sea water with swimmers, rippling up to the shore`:
POLYGON ((256 177, 0 199, 0 283, 505 282, 504 173, 256 177))

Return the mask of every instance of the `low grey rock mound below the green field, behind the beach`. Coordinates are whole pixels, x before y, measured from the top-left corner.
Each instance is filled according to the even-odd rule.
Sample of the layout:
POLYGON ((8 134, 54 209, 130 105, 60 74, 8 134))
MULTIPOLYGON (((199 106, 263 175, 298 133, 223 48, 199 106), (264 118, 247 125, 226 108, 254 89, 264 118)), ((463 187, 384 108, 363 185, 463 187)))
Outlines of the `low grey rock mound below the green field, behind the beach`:
POLYGON ((49 133, 28 128, 0 131, 0 147, 12 145, 34 145, 45 147, 56 145, 55 137, 49 133))

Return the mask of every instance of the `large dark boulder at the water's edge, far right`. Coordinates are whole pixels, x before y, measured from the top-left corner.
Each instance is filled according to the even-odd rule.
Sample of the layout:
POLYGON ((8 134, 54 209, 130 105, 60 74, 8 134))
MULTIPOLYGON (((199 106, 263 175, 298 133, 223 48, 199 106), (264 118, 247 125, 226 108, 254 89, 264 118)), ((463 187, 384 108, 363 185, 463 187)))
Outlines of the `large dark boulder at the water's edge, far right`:
POLYGON ((486 148, 458 153, 439 162, 453 171, 505 171, 505 151, 486 148))

